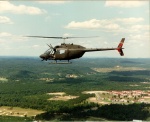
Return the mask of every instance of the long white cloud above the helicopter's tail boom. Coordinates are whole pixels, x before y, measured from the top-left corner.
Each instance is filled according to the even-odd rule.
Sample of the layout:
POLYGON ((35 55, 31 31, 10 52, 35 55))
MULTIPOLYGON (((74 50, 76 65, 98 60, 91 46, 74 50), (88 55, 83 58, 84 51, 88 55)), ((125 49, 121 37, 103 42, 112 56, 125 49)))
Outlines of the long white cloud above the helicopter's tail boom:
POLYGON ((114 19, 91 19, 83 22, 70 22, 65 28, 68 29, 104 29, 121 30, 122 24, 135 24, 144 21, 143 18, 114 18, 114 19), (119 25, 120 24, 120 25, 119 25))

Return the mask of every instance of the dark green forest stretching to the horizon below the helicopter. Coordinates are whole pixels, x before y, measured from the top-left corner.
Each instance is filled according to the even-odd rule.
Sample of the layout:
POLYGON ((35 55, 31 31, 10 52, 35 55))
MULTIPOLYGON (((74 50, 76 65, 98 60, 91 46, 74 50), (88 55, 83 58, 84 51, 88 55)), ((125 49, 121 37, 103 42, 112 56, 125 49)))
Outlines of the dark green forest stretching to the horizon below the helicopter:
MULTIPOLYGON (((72 62, 49 64, 36 57, 0 57, 0 106, 45 111, 37 115, 36 120, 150 119, 149 104, 99 105, 87 101, 94 94, 82 94, 83 91, 96 90, 150 90, 145 84, 150 83, 150 59, 83 58, 72 62), (141 70, 104 73, 92 69, 116 66, 141 70), (133 87, 135 84, 137 86, 133 87), (49 101, 52 96, 47 93, 53 92, 79 97, 68 101, 49 101)), ((0 120, 6 118, 9 117, 1 116, 0 120)))

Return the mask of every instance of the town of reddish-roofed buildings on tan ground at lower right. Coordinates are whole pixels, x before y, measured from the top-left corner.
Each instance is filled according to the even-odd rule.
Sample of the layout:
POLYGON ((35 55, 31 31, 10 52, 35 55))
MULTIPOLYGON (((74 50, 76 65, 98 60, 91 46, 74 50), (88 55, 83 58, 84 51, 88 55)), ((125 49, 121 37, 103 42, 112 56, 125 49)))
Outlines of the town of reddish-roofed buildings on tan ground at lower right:
POLYGON ((95 94, 95 97, 89 98, 88 101, 99 104, 150 103, 150 90, 85 91, 83 93, 95 94))

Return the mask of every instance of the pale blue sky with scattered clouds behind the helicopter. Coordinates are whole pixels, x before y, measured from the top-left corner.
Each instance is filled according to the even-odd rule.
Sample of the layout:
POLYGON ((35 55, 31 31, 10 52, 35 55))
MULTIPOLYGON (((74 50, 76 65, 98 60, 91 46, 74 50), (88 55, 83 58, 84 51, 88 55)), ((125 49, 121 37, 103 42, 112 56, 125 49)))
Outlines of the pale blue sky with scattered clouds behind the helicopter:
MULTIPOLYGON (((150 1, 0 1, 0 56, 36 56, 63 42, 24 36, 89 37, 66 43, 87 48, 117 47, 125 38, 124 57, 150 58, 150 1)), ((120 58, 117 51, 83 57, 120 58)))

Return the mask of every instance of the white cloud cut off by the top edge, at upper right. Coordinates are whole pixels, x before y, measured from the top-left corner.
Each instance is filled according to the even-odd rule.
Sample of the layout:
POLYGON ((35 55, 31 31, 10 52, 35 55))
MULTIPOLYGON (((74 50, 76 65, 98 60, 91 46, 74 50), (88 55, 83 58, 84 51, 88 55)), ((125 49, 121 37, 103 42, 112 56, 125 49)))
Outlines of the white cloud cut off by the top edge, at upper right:
POLYGON ((145 1, 106 1, 106 7, 122 7, 122 8, 131 8, 131 7, 140 7, 145 5, 145 1))

